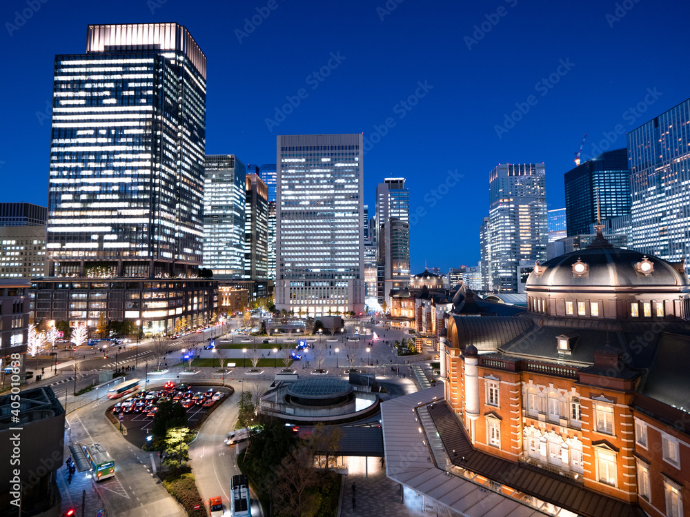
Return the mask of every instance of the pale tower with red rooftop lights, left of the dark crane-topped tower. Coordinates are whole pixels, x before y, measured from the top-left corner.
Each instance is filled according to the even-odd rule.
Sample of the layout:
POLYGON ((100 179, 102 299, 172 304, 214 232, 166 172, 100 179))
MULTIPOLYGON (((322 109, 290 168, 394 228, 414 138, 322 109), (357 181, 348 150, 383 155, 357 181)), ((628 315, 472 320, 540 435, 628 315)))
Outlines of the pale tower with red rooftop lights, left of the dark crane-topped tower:
POLYGON ((520 261, 545 261, 548 240, 543 163, 500 163, 489 174, 491 288, 517 292, 520 261))

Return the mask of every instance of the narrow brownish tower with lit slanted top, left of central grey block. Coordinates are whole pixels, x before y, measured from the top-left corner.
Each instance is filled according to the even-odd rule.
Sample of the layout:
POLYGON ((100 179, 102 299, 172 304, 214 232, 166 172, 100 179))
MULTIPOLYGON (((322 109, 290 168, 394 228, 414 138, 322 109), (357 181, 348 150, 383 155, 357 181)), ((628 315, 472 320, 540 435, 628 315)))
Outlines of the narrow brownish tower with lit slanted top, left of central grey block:
POLYGON ((244 278, 266 280, 268 274, 268 188, 257 174, 246 176, 244 278))

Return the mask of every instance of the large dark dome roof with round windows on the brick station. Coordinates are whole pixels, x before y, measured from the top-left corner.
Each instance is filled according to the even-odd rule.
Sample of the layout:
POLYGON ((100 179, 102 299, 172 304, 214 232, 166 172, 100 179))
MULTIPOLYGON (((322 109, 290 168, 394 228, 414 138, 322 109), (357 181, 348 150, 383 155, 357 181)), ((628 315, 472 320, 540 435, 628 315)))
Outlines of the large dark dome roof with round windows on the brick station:
POLYGON ((529 275, 531 287, 683 287, 690 285, 683 263, 669 263, 633 250, 622 250, 597 239, 584 250, 538 264, 529 275))

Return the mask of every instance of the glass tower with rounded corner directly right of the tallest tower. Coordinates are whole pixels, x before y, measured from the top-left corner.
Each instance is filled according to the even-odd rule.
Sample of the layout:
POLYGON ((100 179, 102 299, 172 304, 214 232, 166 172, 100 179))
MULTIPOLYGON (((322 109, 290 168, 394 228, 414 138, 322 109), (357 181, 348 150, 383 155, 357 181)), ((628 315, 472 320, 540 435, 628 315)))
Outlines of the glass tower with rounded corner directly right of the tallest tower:
POLYGON ((246 166, 234 154, 206 156, 204 267, 219 279, 244 276, 246 166))

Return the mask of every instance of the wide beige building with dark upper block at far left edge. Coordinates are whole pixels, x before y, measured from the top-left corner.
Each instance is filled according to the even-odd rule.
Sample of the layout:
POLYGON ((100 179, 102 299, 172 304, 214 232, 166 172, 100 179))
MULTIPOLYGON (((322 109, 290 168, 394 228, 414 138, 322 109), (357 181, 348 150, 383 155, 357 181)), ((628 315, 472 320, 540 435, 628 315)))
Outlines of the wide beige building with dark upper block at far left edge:
POLYGON ((0 203, 0 278, 46 274, 46 207, 0 203))

